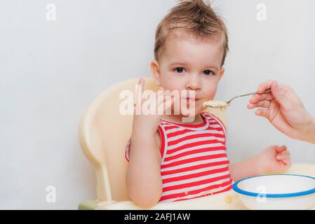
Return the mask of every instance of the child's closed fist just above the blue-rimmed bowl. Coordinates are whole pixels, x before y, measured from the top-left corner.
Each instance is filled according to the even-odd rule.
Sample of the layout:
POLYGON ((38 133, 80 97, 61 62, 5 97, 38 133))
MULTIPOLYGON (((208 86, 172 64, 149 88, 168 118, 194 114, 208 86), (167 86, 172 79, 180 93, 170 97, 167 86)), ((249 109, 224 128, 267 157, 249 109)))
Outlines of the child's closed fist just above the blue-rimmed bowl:
POLYGON ((256 157, 258 169, 261 174, 267 172, 280 172, 291 166, 290 153, 286 146, 270 146, 265 148, 256 157))

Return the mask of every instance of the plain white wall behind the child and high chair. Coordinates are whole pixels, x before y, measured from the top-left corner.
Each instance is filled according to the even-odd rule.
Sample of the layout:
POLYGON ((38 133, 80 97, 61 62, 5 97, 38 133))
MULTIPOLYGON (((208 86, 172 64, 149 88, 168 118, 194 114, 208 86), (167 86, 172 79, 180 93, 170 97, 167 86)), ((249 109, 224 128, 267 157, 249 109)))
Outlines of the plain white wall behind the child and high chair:
MULTIPOLYGON (((127 78, 151 76, 154 31, 176 1, 0 1, 0 209, 76 209, 94 199, 93 168, 79 148, 86 106, 127 78), (56 20, 46 20, 55 4, 56 20), (46 202, 55 186, 56 202, 46 202)), ((215 0, 230 53, 217 99, 268 79, 291 85, 315 115, 312 0, 215 0), (257 4, 267 20, 256 18, 257 4)), ((293 141, 238 99, 227 112, 229 155, 246 159, 286 144, 293 162, 315 163, 315 146, 293 141)))

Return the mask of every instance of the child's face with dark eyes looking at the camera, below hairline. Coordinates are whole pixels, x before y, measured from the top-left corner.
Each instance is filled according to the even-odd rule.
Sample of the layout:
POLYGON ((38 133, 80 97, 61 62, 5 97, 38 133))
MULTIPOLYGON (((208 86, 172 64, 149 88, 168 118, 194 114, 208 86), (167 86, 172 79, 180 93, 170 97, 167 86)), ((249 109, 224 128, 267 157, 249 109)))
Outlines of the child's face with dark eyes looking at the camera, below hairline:
POLYGON ((220 41, 201 41, 187 36, 172 38, 166 44, 160 62, 152 61, 154 80, 164 90, 193 90, 195 113, 205 108, 203 102, 215 97, 222 78, 223 48, 220 41))

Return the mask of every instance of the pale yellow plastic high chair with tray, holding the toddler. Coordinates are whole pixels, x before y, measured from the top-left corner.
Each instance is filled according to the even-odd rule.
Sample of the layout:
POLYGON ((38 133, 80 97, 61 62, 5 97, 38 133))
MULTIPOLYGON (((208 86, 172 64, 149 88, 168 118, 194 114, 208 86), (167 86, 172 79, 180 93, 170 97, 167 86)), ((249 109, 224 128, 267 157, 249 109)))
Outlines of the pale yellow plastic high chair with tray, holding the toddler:
MULTIPOLYGON (((79 124, 79 142, 86 158, 95 167, 97 200, 79 204, 79 209, 141 209, 130 201, 126 186, 128 162, 125 148, 130 138, 133 115, 123 115, 119 111, 119 94, 130 90, 135 94, 139 78, 124 80, 109 87, 88 106, 79 124)), ((145 78, 145 90, 158 90, 152 78, 145 78)), ((222 111, 207 109, 226 120, 222 111)), ((133 110, 132 110, 133 113, 133 110)), ((294 165, 286 171, 290 174, 315 176, 314 165, 294 165)), ((246 209, 238 195, 229 191, 217 195, 199 197, 180 202, 159 202, 151 209, 246 209)))

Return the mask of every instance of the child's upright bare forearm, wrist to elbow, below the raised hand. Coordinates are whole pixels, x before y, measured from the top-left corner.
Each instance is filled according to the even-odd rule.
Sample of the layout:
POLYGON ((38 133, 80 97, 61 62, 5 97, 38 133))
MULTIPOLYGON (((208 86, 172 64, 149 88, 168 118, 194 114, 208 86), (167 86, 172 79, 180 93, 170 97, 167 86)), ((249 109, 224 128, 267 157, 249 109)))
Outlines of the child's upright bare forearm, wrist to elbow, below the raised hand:
POLYGON ((161 197, 161 154, 155 135, 135 134, 131 137, 127 171, 129 197, 140 207, 153 207, 161 197))

